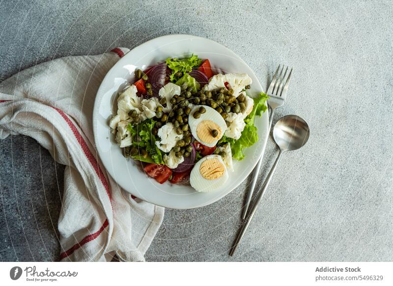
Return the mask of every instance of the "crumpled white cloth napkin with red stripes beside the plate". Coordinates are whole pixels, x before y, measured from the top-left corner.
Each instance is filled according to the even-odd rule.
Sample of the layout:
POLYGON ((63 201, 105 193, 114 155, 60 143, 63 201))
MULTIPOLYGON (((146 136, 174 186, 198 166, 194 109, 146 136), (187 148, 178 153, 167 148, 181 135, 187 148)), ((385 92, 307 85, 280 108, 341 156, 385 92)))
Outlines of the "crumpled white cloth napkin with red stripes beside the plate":
POLYGON ((63 57, 0 84, 0 139, 34 138, 66 165, 58 221, 62 261, 143 261, 164 208, 132 198, 103 168, 95 151, 92 113, 105 74, 129 50, 63 57))

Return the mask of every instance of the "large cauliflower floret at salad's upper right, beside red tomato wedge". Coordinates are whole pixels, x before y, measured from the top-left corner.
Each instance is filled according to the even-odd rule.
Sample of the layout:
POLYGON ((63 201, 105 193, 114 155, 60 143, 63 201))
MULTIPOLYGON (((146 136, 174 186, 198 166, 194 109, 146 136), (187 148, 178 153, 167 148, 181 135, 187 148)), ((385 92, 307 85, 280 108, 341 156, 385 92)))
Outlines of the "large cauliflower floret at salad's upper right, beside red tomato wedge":
POLYGON ((253 80, 248 74, 217 74, 209 80, 209 83, 203 87, 203 90, 214 90, 225 87, 227 82, 230 88, 233 89, 233 96, 238 97, 242 90, 253 83, 253 80))

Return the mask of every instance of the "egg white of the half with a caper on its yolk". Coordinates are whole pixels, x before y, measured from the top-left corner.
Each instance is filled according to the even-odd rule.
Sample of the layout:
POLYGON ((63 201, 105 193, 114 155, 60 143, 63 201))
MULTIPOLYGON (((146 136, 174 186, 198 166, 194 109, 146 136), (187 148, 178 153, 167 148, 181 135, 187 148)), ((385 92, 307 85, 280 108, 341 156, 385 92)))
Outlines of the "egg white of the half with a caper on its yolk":
POLYGON ((197 139, 200 143, 203 145, 206 145, 208 147, 214 147, 217 142, 223 137, 225 130, 226 130, 226 123, 225 119, 221 114, 219 114, 215 109, 206 106, 206 105, 196 105, 194 108, 191 110, 190 115, 188 115, 188 124, 190 125, 191 133, 193 134, 194 138, 197 139), (200 114, 199 118, 194 118, 194 113, 199 110, 199 108, 203 106, 206 109, 206 112, 203 114, 200 114), (202 141, 198 135, 197 135, 197 126, 200 122, 204 120, 210 120, 216 123, 220 128, 221 128, 221 136, 217 136, 216 140, 213 141, 212 143, 207 143, 202 141))

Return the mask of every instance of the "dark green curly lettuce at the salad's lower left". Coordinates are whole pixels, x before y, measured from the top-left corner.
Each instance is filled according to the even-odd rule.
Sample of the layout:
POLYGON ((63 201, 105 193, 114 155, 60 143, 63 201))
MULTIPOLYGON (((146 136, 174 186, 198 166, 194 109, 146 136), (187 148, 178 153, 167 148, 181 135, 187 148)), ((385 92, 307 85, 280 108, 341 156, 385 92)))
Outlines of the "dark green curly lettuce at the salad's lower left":
POLYGON ((163 156, 161 154, 161 150, 156 145, 156 137, 151 132, 154 128, 156 121, 153 119, 146 119, 139 124, 133 126, 128 124, 128 130, 133 136, 133 146, 138 148, 144 148, 148 153, 146 158, 138 155, 131 156, 132 158, 146 162, 146 163, 156 163, 156 164, 164 164, 163 156), (138 138, 136 135, 139 135, 138 138))

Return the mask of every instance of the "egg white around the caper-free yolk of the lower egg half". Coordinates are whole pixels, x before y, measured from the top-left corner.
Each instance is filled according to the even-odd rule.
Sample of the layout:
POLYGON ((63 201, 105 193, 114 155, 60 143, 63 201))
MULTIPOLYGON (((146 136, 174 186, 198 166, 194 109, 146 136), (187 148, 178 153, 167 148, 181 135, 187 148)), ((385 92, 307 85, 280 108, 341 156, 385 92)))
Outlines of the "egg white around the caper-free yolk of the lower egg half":
POLYGON ((203 157, 202 159, 200 159, 197 162, 197 164, 195 164, 195 166, 190 174, 190 184, 198 192, 207 193, 207 192, 215 191, 219 187, 221 187, 227 181, 228 177, 229 177, 228 171, 226 169, 225 163, 224 163, 223 159, 221 158, 221 156, 220 155, 209 155, 209 156, 203 157), (208 159, 218 159, 220 161, 220 163, 223 164, 224 173, 221 177, 214 179, 214 180, 207 180, 201 175, 201 173, 199 171, 200 165, 208 159))

